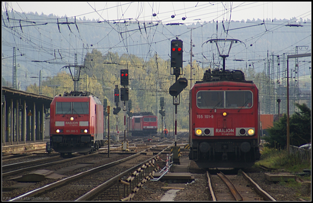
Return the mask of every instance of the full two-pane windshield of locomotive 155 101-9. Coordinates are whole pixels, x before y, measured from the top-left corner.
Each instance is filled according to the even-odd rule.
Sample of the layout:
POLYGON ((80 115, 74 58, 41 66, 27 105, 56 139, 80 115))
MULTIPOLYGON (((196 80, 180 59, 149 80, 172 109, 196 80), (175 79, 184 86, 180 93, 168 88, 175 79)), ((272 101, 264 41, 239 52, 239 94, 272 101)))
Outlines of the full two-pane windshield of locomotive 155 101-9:
POLYGON ((250 108, 253 105, 251 91, 199 91, 199 108, 250 108))

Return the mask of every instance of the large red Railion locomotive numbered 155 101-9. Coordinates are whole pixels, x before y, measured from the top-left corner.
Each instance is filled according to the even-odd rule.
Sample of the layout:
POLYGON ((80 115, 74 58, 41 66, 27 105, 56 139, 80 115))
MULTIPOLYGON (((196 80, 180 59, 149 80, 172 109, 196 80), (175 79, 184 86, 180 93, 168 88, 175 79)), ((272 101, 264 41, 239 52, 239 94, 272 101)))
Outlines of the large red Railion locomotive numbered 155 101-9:
POLYGON ((189 159, 202 168, 251 167, 260 158, 258 94, 241 71, 206 71, 190 90, 189 159))

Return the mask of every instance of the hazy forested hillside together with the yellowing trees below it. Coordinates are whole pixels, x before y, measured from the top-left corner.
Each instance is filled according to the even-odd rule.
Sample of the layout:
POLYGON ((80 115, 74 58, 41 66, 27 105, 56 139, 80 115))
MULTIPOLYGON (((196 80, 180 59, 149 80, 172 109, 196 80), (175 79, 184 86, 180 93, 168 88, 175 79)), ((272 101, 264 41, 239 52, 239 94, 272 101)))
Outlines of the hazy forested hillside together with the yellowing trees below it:
MULTIPOLYGON (((226 68, 244 71, 246 79, 257 84, 261 113, 266 113, 267 100, 261 98, 269 97, 269 86, 270 90, 280 88, 281 92, 285 92, 283 53, 295 53, 296 47, 298 53, 311 51, 311 21, 302 19, 199 21, 192 25, 165 25, 162 22, 138 23, 131 20, 97 22, 37 13, 2 12, 2 16, 3 85, 12 86, 15 47, 19 89, 49 97, 70 92, 74 87, 72 77, 69 69, 62 67, 74 65, 77 61, 78 65, 85 66, 80 72, 78 90, 91 92, 100 101, 108 99, 113 108, 112 91, 115 85, 120 85, 120 69, 127 68, 132 111, 152 111, 159 116, 160 97, 164 97, 168 125, 173 120, 172 97, 168 90, 175 81, 169 66, 170 42, 178 37, 183 41, 185 62, 182 77, 188 79, 188 87, 180 95, 179 129, 188 128, 190 83, 201 80, 208 68, 221 66, 218 51, 228 53, 230 44, 221 42, 217 49, 215 43, 208 42, 209 39, 239 40, 232 45, 226 68), (193 28, 192 33, 190 28, 193 28), (191 34, 194 45, 192 68, 191 34)), ((305 81, 303 77, 308 75, 310 80, 310 64, 310 59, 301 60, 298 64, 299 87, 311 87, 310 81, 305 81)), ((295 68, 294 62, 292 67, 295 68)), ((275 92, 271 94, 277 97, 275 92)), ((272 106, 275 101, 276 98, 271 100, 272 106)), ((111 119, 114 119, 113 114, 111 119)), ((119 122, 119 125, 122 123, 119 122)), ((167 129, 172 130, 171 126, 167 129)))

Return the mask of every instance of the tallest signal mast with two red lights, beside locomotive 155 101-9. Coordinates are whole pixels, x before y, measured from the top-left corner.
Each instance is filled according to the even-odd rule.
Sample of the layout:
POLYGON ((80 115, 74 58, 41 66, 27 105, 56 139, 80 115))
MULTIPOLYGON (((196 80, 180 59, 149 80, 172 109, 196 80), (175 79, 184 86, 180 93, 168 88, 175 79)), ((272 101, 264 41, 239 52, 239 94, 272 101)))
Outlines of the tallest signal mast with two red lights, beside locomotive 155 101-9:
POLYGON ((173 105, 175 105, 175 146, 172 147, 173 161, 179 163, 180 150, 177 147, 177 105, 180 102, 180 93, 188 85, 186 78, 179 78, 182 75, 182 40, 176 37, 171 41, 171 75, 175 75, 175 83, 170 87, 169 93, 173 96, 173 105), (178 97, 177 97, 178 96, 178 97))

